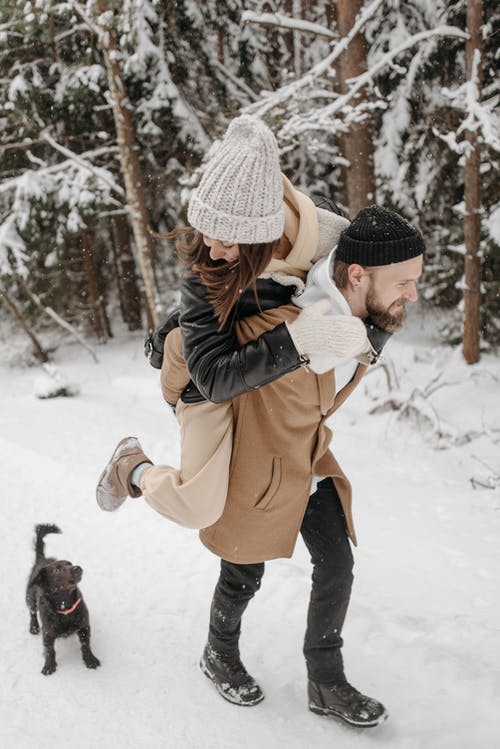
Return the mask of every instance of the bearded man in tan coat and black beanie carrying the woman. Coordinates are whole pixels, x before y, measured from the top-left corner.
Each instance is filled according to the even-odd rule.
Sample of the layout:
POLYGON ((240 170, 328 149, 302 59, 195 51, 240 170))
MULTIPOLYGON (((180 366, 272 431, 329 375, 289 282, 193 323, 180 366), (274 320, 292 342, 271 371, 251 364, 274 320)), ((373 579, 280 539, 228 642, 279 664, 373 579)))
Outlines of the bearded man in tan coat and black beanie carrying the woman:
MULTIPOLYGON (((366 208, 343 231, 336 250, 309 271, 306 290, 295 302, 307 306, 326 297, 332 312, 370 316, 392 333, 403 324, 406 304, 418 297, 423 251, 422 236, 399 215, 366 208)), ((292 309, 279 309, 287 309, 290 335, 300 352, 292 309)), ((262 316, 240 343, 262 332, 259 321, 262 316)), ((241 619, 260 587, 264 561, 291 556, 300 532, 314 566, 304 641, 309 708, 356 726, 377 725, 387 717, 384 706, 360 694, 344 674, 341 633, 353 565, 347 536, 353 543, 356 537, 350 486, 328 450, 331 433, 324 424, 365 370, 356 361, 336 369, 334 376, 302 368, 233 401, 226 506, 220 519, 200 532, 202 542, 222 560, 201 668, 231 702, 253 705, 263 699, 239 657, 241 619), (307 500, 311 476, 321 480, 307 500)))

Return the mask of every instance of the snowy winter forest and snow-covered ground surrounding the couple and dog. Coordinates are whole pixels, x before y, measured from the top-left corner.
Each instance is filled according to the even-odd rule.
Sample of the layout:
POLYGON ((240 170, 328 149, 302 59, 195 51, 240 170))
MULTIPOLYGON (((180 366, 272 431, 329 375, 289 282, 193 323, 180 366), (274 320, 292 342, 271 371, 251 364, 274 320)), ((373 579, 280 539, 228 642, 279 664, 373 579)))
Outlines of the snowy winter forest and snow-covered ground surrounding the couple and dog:
POLYGON ((127 434, 178 462, 143 342, 178 300, 163 235, 241 113, 317 205, 383 205, 425 239, 407 327, 332 426, 362 538, 345 650, 388 704, 380 746, 496 744, 499 56, 497 0, 0 0, 7 749, 373 746, 305 709, 303 547, 266 567, 244 653, 267 699, 240 710, 198 669, 218 560, 138 502, 95 503, 127 434), (84 568, 96 672, 72 638, 40 674, 24 587, 41 522, 84 568))

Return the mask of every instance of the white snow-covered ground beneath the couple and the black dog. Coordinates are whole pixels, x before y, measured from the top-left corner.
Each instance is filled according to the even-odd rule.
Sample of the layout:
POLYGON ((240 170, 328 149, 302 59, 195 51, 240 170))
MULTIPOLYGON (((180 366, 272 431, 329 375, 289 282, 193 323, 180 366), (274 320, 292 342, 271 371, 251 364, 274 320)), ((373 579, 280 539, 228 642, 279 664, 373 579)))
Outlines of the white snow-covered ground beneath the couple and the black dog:
POLYGON ((307 710, 301 540, 291 560, 267 565, 245 615, 242 655, 266 699, 239 708, 198 668, 217 558, 141 500, 98 509, 96 478, 122 436, 139 436, 156 461, 178 458, 176 422, 142 337, 118 333, 97 348, 98 364, 68 341, 54 361, 80 393, 41 400, 41 368, 17 366, 24 341, 0 327, 2 747, 498 746, 500 360, 467 367, 430 327, 420 314, 387 347, 399 396, 416 407, 409 418, 367 415, 387 392, 379 370, 332 419, 359 536, 346 668, 390 712, 365 732, 307 710), (443 386, 428 398, 415 392, 433 381, 443 386), (46 538, 47 552, 84 568, 97 671, 84 667, 73 637, 56 643, 57 672, 40 673, 41 638, 29 634, 24 602, 40 522, 63 531, 46 538))

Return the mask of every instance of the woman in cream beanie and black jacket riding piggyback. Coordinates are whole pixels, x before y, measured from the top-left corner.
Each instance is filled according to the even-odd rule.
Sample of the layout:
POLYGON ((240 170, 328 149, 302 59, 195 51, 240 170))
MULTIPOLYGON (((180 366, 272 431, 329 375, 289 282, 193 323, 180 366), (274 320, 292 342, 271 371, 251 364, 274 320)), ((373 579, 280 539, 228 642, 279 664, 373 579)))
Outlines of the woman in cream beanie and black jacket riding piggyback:
POLYGON ((204 528, 220 517, 227 494, 231 399, 306 362, 315 369, 319 354, 331 369, 366 345, 366 333, 357 319, 337 317, 332 327, 332 318, 314 309, 255 342, 238 342, 235 321, 288 304, 348 225, 281 174, 275 138, 257 118, 233 120, 191 198, 188 220, 197 233, 188 245, 178 242, 186 269, 180 328, 167 339, 161 377, 181 427, 181 467, 152 467, 128 437, 99 480, 98 502, 115 510, 142 494, 170 520, 204 528))

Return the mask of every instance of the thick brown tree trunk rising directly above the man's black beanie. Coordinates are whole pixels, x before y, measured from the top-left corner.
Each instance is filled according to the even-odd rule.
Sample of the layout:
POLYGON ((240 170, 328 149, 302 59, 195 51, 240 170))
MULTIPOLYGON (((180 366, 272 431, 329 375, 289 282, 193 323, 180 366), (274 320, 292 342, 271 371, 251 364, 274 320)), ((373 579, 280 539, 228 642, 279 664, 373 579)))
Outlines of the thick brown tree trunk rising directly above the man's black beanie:
MULTIPOLYGON (((341 36, 346 36, 354 25, 364 0, 337 0, 337 24, 341 36)), ((349 78, 361 75, 367 69, 367 45, 363 34, 358 34, 342 55, 338 66, 341 93, 346 93, 349 78)), ((357 103, 366 96, 362 89, 357 103)), ((373 137, 371 117, 353 123, 349 132, 340 138, 342 155, 349 162, 344 170, 346 202, 349 215, 354 217, 361 208, 375 202, 375 173, 373 166, 373 137)))

